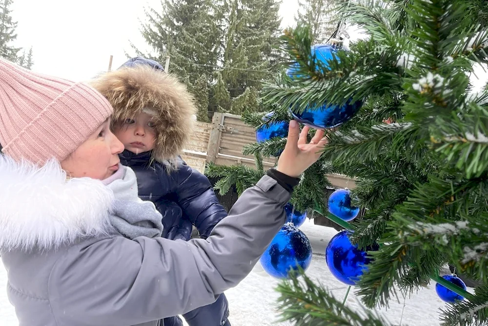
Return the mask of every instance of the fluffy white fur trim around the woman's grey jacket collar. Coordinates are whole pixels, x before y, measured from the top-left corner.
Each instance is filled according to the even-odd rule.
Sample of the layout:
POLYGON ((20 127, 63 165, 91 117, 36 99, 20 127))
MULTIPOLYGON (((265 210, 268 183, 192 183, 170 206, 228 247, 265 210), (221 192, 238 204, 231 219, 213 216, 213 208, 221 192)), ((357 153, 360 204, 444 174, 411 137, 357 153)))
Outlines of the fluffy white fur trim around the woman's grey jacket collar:
POLYGON ((113 193, 101 181, 70 179, 58 162, 39 168, 0 154, 0 249, 56 248, 106 234, 113 193))

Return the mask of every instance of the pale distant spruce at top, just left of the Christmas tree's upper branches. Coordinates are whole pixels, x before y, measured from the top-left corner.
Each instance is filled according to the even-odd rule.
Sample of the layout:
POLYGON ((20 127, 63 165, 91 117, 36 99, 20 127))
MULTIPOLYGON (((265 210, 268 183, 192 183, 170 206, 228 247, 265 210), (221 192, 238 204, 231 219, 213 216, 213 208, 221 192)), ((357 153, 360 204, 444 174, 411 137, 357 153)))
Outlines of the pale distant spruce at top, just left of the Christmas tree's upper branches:
POLYGON ((324 43, 334 33, 338 21, 336 0, 300 0, 295 21, 307 26, 313 42, 324 43))

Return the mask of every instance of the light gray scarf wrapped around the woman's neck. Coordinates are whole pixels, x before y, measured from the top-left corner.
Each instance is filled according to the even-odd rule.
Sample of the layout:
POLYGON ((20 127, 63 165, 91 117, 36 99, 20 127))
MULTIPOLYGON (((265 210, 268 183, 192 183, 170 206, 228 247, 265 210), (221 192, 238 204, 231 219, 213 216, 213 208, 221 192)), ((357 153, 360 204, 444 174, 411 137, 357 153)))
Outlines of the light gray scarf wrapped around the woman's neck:
POLYGON ((112 226, 129 239, 161 237, 163 217, 152 202, 138 197, 136 174, 131 168, 120 164, 119 170, 102 182, 115 196, 112 226))

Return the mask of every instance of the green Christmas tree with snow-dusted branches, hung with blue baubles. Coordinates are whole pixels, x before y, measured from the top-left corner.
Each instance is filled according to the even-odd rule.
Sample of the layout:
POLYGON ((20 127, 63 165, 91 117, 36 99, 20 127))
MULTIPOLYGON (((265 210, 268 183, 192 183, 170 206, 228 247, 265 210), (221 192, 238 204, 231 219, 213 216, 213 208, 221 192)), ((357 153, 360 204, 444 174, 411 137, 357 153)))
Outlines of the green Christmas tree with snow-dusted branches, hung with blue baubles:
MULTIPOLYGON (((488 90, 471 92, 473 65, 488 62, 488 5, 479 0, 345 1, 342 14, 366 29, 367 40, 338 51, 324 65, 311 51, 307 28, 282 37, 294 78, 264 89, 263 111, 247 114, 256 129, 323 104, 362 103, 357 114, 328 130, 320 161, 293 194, 299 210, 325 212, 325 174, 356 178, 353 198, 365 213, 345 227, 372 261, 355 292, 368 308, 397 293, 414 294, 453 265, 480 286, 465 300, 446 304, 442 325, 488 323, 488 90)), ((260 157, 276 155, 274 137, 245 151, 257 168, 210 165, 225 192, 253 185, 263 174, 260 157)), ((296 273, 279 287, 284 320, 295 325, 388 325, 375 314, 353 311, 325 288, 296 273)), ((421 312, 419 312, 421 313, 421 312)))

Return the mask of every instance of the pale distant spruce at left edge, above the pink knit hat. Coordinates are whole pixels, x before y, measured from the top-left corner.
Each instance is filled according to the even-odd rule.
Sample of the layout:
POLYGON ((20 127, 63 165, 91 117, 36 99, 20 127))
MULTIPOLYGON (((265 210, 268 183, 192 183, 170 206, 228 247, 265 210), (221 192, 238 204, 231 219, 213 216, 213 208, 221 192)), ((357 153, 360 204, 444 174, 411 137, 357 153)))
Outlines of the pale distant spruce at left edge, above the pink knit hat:
POLYGON ((17 39, 17 34, 15 33, 17 22, 12 19, 11 5, 12 0, 0 2, 0 57, 17 62, 21 48, 12 45, 12 42, 17 39))

